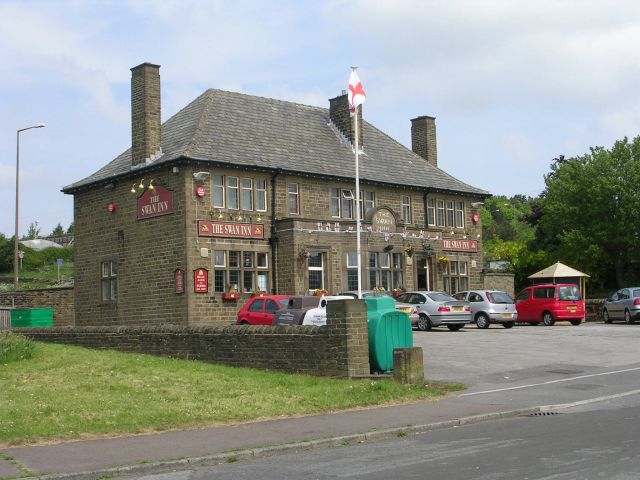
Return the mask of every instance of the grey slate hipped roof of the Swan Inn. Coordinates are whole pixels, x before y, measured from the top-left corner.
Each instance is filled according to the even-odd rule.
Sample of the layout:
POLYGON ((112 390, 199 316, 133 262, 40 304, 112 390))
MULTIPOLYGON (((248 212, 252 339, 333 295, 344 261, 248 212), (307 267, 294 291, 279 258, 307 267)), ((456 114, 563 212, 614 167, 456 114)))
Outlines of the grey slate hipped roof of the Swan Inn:
MULTIPOLYGON (((382 183, 488 196, 433 167, 391 137, 363 122, 362 183, 382 183)), ((66 186, 65 193, 178 159, 244 168, 355 178, 354 154, 329 125, 327 108, 209 89, 162 125, 163 155, 131 166, 128 149, 93 175, 66 186)))

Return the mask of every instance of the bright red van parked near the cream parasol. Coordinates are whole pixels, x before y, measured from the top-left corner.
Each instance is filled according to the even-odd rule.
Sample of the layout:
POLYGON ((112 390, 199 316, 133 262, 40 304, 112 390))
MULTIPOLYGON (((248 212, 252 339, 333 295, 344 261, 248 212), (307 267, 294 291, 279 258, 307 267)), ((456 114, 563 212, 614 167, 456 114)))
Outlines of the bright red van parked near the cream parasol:
POLYGON ((531 325, 544 322, 551 326, 557 321, 580 325, 584 320, 584 301, 580 288, 574 283, 532 285, 516 296, 518 322, 531 325))

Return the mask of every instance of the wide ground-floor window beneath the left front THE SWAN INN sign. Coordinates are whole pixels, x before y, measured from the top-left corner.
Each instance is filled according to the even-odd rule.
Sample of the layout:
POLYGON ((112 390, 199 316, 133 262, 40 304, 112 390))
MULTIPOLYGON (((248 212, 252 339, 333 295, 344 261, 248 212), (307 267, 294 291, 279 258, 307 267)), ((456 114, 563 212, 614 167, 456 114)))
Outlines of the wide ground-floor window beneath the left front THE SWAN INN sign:
POLYGON ((213 266, 215 292, 226 292, 230 288, 244 293, 267 291, 269 272, 267 254, 264 252, 215 250, 213 266))

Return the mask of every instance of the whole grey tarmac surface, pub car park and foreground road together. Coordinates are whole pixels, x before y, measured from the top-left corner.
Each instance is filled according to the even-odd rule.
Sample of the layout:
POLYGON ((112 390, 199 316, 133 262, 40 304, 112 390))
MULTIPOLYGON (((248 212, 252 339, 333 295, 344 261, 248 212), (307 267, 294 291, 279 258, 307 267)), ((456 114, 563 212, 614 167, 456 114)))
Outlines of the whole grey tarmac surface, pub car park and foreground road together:
POLYGON ((640 325, 469 326, 415 332, 414 344, 426 378, 469 386, 443 401, 546 414, 138 478, 640 478, 640 325))

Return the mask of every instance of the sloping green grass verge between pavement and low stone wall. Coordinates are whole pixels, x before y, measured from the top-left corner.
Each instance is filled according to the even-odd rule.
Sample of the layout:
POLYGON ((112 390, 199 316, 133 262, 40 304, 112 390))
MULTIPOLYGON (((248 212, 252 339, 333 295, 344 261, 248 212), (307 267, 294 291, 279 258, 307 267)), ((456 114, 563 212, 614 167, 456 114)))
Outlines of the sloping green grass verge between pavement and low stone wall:
POLYGON ((34 342, 0 364, 0 445, 438 398, 461 385, 340 380, 34 342))

